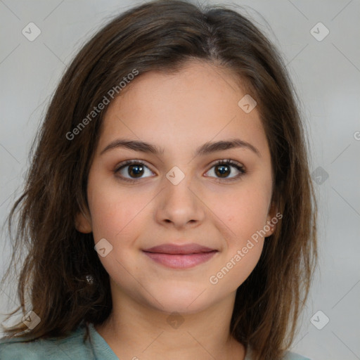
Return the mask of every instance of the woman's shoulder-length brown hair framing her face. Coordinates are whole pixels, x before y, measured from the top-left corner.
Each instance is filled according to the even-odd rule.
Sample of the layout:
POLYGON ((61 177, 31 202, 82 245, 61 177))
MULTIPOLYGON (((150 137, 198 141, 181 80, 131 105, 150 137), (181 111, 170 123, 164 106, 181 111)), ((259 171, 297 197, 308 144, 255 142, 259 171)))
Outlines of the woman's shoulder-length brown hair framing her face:
POLYGON ((222 6, 162 0, 105 25, 79 51, 53 94, 32 146, 24 192, 8 217, 11 236, 18 215, 12 264, 19 250, 29 251, 18 283, 21 309, 30 310, 28 294, 41 322, 33 330, 22 322, 7 328, 9 337, 63 337, 82 321, 107 319, 109 276, 92 234, 75 229, 77 213, 88 207, 86 180, 105 109, 73 139, 67 134, 134 70, 169 73, 192 59, 230 70, 256 99, 271 152, 273 200, 283 214, 237 290, 231 333, 257 359, 280 359, 290 347, 317 262, 316 199, 295 91, 274 45, 243 15, 222 6), (96 286, 88 284, 88 274, 96 286))

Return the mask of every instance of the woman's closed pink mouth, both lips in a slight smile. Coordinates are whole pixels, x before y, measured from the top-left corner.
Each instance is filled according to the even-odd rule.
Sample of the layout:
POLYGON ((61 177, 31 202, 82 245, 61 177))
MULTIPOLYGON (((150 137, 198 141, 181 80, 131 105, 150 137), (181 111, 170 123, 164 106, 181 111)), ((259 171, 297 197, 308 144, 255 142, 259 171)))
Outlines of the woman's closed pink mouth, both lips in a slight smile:
POLYGON ((163 244, 143 250, 145 255, 158 264, 172 269, 189 269, 210 260, 218 250, 198 244, 163 244))

